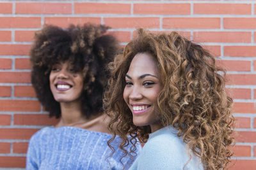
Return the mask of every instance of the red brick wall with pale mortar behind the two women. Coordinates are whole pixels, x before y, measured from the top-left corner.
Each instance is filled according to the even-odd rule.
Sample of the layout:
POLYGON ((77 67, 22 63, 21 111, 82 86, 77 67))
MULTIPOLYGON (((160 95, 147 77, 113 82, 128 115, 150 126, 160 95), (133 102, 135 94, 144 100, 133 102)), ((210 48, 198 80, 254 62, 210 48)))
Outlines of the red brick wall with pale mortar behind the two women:
POLYGON ((230 169, 256 167, 256 1, 1 1, 0 169, 24 168, 32 134, 56 120, 38 103, 28 52, 45 24, 110 25, 125 45, 136 27, 179 31, 204 45, 225 66, 234 97, 236 146, 230 169))

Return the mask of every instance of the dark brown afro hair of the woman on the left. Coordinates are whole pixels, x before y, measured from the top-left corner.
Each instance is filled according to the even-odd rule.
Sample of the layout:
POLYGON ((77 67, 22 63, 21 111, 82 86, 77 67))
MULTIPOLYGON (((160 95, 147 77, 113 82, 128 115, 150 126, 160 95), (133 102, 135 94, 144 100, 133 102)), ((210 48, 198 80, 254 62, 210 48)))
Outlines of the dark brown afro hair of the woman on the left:
POLYGON ((104 25, 70 25, 62 29, 46 25, 35 34, 35 43, 29 53, 32 71, 31 82, 36 96, 49 117, 61 116, 60 103, 55 101, 49 85, 49 74, 54 64, 68 61, 76 71, 82 71, 83 114, 102 113, 102 94, 108 81, 106 66, 120 50, 116 38, 104 34, 109 27, 104 25))

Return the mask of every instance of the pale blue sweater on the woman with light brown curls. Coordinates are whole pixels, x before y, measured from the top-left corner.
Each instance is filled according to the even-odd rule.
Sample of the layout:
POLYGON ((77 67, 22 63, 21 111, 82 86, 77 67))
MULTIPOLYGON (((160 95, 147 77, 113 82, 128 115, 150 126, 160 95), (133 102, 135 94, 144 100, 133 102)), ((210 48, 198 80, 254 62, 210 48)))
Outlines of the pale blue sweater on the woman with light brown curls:
POLYGON ((171 126, 164 127, 150 134, 139 157, 129 170, 204 169, 200 159, 192 152, 192 159, 188 162, 188 152, 186 144, 177 136, 177 130, 171 126))

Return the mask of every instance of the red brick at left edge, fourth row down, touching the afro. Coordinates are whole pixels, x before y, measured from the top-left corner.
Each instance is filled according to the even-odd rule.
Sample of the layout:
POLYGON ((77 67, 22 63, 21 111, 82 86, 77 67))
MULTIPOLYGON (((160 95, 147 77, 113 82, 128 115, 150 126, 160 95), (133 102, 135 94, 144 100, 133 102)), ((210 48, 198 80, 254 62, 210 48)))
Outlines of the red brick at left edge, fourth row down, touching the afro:
POLYGON ((0 55, 28 55, 31 45, 0 45, 0 55))

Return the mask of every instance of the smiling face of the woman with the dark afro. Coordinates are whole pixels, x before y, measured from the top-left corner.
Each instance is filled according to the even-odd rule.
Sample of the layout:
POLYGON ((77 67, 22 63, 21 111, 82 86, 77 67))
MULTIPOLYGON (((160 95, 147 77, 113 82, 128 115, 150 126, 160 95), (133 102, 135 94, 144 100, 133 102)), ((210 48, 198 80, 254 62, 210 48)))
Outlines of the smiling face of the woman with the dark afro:
POLYGON ((68 62, 52 66, 49 76, 54 99, 60 103, 79 101, 83 92, 83 74, 76 73, 68 62))

